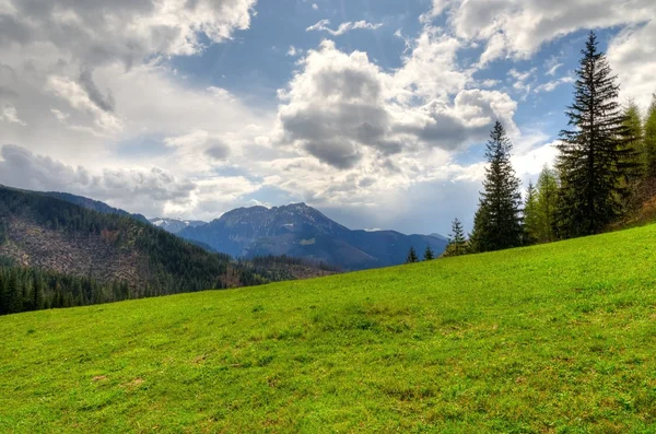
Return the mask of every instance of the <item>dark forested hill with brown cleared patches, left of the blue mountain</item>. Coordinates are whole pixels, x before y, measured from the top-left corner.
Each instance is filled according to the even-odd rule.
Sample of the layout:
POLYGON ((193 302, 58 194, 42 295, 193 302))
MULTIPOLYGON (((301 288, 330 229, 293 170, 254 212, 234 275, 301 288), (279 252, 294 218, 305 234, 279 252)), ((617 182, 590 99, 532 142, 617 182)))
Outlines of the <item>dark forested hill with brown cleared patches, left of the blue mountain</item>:
MULTIPOLYGON (((235 262, 229 255, 209 253, 131 214, 94 211, 61 200, 59 195, 0 187, 0 268, 24 269, 10 272, 19 281, 34 273, 55 273, 38 274, 39 280, 59 282, 49 291, 44 290, 49 303, 45 306, 103 303, 333 273, 314 263, 285 258, 235 262), (99 293, 93 293, 92 288, 99 289, 99 293)), ((65 197, 70 199, 72 195, 65 197)), ((86 203, 96 207, 102 202, 86 203)), ((30 292, 33 283, 30 280, 22 284, 24 291, 19 291, 20 294, 30 292)), ((22 304, 21 300, 16 303, 22 304)), ((20 310, 15 307, 12 312, 20 310)))

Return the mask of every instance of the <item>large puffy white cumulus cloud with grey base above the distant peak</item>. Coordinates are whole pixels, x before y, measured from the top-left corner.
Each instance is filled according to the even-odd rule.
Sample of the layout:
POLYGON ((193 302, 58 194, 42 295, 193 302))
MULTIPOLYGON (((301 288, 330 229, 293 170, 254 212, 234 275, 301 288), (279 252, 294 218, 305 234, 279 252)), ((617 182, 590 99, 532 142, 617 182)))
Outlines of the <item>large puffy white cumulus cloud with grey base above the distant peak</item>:
MULTIPOLYGON (((485 137, 501 119, 511 131, 516 104, 501 92, 466 90, 456 64, 460 47, 426 26, 403 67, 388 73, 365 52, 350 55, 325 40, 281 91, 274 141, 340 169, 367 153, 384 160, 403 151, 456 150, 485 137)), ((383 164, 382 169, 398 169, 383 164)))

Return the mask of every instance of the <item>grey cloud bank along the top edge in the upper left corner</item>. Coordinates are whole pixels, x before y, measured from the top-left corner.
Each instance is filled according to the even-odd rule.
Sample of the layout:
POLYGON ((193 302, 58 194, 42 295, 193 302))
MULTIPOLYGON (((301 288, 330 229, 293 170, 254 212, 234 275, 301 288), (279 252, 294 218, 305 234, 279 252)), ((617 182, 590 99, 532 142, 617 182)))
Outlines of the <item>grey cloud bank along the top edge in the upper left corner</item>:
POLYGON ((51 44, 82 64, 132 66, 153 52, 192 55, 247 28, 256 0, 5 0, 1 45, 51 44), (75 44, 71 44, 74 40, 75 44))

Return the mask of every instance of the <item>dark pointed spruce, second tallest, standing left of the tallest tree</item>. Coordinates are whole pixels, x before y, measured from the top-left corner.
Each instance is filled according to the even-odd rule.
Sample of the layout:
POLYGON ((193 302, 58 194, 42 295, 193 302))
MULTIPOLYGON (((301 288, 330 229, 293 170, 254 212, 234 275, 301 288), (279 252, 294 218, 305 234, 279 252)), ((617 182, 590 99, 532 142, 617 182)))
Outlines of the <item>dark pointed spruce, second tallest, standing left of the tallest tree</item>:
POLYGON ((473 251, 491 251, 522 245, 522 195, 519 179, 511 164, 513 145, 500 121, 496 121, 485 157, 484 191, 473 220, 470 245, 473 251))

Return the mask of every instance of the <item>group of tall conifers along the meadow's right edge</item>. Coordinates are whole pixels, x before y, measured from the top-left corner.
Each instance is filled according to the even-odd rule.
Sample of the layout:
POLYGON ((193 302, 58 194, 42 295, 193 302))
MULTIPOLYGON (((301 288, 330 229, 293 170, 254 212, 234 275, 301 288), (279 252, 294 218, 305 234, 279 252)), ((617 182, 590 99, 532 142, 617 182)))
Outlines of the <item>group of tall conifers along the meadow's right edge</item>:
POLYGON ((619 90, 590 32, 554 166, 546 166, 536 185, 529 181, 523 199, 513 145, 496 121, 473 230, 467 238, 454 220, 443 257, 598 234, 656 196, 656 95, 643 119, 634 102, 620 105, 619 90))

